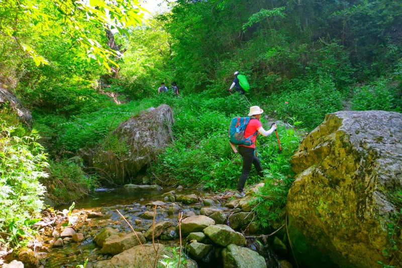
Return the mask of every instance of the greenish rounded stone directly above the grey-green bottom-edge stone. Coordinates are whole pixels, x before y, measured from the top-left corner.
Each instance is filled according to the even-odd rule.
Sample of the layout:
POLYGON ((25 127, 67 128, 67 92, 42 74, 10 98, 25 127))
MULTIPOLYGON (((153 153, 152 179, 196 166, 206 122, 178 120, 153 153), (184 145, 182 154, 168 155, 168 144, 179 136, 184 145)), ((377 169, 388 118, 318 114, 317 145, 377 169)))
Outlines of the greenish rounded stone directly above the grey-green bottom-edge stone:
POLYGON ((227 246, 229 244, 245 245, 246 238, 230 228, 227 225, 217 224, 211 225, 204 229, 204 233, 215 243, 220 246, 227 246))

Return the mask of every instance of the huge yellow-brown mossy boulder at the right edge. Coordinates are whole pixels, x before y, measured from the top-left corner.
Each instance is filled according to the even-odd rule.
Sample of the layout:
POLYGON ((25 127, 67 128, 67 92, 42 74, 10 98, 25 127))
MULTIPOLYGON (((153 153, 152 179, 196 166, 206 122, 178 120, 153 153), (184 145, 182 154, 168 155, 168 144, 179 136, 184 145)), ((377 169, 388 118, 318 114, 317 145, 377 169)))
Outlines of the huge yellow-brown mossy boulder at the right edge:
MULTIPOLYGON (((374 267, 394 257, 392 265, 402 265, 388 235, 390 229, 396 230, 393 237, 401 235, 392 226, 402 188, 402 114, 329 114, 300 143, 291 163, 297 175, 287 212, 298 261, 310 267, 331 260, 340 267, 374 267)), ((395 241, 400 249, 401 239, 395 241)))

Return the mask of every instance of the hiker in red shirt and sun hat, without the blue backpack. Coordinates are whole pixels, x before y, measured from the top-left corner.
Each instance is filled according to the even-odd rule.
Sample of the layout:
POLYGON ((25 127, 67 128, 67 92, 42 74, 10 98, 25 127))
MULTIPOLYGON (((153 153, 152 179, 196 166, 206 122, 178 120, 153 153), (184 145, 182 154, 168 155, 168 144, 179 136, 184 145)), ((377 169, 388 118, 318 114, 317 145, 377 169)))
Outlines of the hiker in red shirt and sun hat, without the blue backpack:
POLYGON ((237 183, 237 191, 239 192, 236 196, 244 197, 245 194, 243 192, 244 185, 246 184, 247 177, 250 173, 251 166, 254 164, 255 169, 257 170, 257 174, 263 177, 262 166, 260 163, 260 159, 255 154, 255 140, 258 134, 263 136, 271 135, 272 132, 276 130, 276 124, 272 124, 271 129, 265 131, 260 122, 261 114, 264 111, 260 109, 258 106, 250 107, 250 113, 248 116, 251 118, 250 122, 247 124, 247 127, 244 131, 244 137, 250 137, 252 144, 250 146, 239 145, 239 153, 243 156, 243 169, 242 174, 240 175, 239 182, 237 183), (256 135, 254 135, 256 133, 256 135))

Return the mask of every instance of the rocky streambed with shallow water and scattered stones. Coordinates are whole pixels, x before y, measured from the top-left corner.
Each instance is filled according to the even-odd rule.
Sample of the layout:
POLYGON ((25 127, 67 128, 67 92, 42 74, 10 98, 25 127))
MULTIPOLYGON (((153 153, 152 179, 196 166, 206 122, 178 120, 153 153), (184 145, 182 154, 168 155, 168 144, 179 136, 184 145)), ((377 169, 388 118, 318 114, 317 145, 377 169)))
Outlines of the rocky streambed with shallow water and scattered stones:
POLYGON ((291 267, 281 259, 287 255, 281 232, 268 239, 271 245, 253 237, 264 231, 249 204, 258 186, 242 199, 156 185, 100 191, 71 211, 48 211, 36 224, 40 236, 8 262, 70 268, 88 259, 86 267, 149 267, 147 256, 153 266, 157 249, 156 267, 165 267, 178 259, 181 232, 184 267, 291 267))

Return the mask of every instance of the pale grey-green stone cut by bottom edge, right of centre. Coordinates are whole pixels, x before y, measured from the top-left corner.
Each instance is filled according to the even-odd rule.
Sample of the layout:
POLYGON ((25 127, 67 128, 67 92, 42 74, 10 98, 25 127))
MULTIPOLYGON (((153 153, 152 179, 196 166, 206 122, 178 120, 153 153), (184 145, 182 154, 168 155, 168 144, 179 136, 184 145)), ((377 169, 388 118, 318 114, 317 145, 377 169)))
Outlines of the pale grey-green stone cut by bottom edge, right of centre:
POLYGON ((242 246, 230 244, 222 250, 225 268, 266 268, 265 259, 257 252, 242 246))

